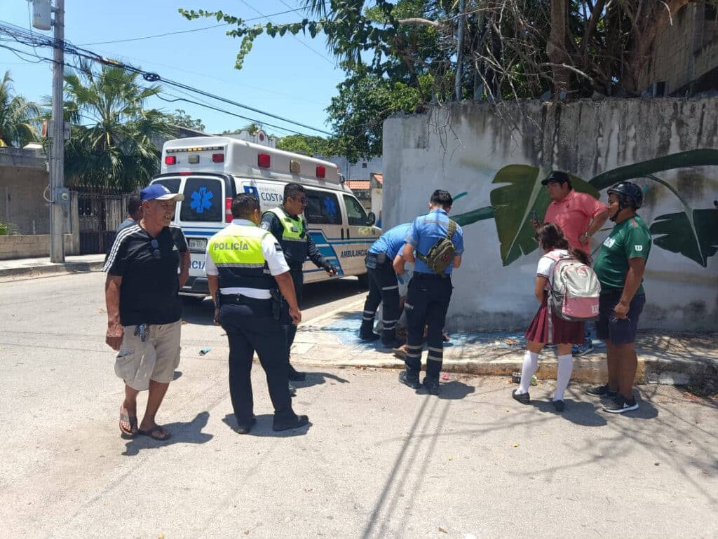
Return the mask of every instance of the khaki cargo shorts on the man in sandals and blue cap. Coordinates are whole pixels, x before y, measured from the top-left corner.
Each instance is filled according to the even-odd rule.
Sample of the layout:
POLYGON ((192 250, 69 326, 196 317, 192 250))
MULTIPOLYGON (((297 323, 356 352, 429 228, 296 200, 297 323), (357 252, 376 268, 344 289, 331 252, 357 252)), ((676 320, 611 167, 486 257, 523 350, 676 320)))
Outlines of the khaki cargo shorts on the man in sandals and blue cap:
POLYGON ((180 365, 180 321, 148 325, 145 339, 135 335, 136 326, 124 326, 122 346, 115 359, 115 374, 134 390, 149 388, 149 380, 170 383, 180 365))

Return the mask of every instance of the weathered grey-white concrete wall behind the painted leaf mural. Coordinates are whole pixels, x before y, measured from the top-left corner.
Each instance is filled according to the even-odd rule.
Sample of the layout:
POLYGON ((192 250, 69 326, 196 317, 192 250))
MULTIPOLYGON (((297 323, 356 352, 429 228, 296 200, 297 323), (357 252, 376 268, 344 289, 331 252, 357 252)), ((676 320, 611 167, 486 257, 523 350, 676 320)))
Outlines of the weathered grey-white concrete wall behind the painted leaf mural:
MULTIPOLYGON (((509 164, 536 167, 535 181, 526 184, 526 196, 531 193, 533 197, 541 194, 539 182, 551 169, 567 170, 589 180, 627 164, 718 148, 716 99, 584 100, 569 104, 528 101, 502 106, 500 114, 487 104, 462 103, 421 116, 389 118, 383 136, 383 228, 426 212, 429 196, 437 188, 447 189, 454 197, 465 193, 454 202, 454 216, 485 207, 490 212, 491 193, 500 187, 492 182, 509 164)), ((718 223, 718 210, 714 208, 718 167, 690 167, 686 165, 689 161, 682 161, 684 168, 679 169, 663 170, 659 165, 655 175, 678 189, 693 209, 701 210, 703 225, 710 225, 711 220, 718 223)), ((505 172, 500 182, 513 182, 505 172)), ((640 210, 648 225, 658 216, 683 210, 666 187, 648 179, 635 181, 648 189, 640 210)), ((605 201, 603 189, 601 198, 605 201)), ((526 207, 520 211, 523 217, 528 215, 526 207)), ((536 250, 519 253, 516 260, 504 265, 497 221, 485 211, 471 215, 474 222, 463 227, 466 252, 454 276, 447 327, 526 327, 536 311, 536 245, 532 247, 536 250)), ((714 229, 704 230, 705 258, 701 262, 705 267, 688 256, 661 248, 656 245, 660 235, 653 236, 642 327, 718 329, 718 256, 714 256, 718 226, 714 229)), ((690 230, 687 225, 673 231, 673 239, 685 237, 688 245, 693 238, 686 236, 686 230, 690 230)), ((605 235, 607 231, 597 234, 594 247, 605 235)))

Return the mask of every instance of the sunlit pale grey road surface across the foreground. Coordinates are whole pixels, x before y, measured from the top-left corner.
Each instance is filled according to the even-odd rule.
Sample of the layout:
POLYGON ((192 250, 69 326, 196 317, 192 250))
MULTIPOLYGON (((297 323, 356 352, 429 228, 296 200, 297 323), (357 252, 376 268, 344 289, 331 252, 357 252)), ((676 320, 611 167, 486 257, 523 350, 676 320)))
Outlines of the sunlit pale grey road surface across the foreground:
MULTIPOLYGON (((305 319, 352 281, 310 286, 305 319)), ((104 345, 98 273, 0 283, 1 538, 711 538, 718 408, 644 386, 633 417, 571 385, 567 411, 503 378, 453 378, 441 398, 396 371, 314 372, 276 436, 261 368, 258 426, 231 424, 222 330, 187 306, 161 444, 119 436, 121 381, 104 345), (203 347, 212 350, 199 355, 203 347)))

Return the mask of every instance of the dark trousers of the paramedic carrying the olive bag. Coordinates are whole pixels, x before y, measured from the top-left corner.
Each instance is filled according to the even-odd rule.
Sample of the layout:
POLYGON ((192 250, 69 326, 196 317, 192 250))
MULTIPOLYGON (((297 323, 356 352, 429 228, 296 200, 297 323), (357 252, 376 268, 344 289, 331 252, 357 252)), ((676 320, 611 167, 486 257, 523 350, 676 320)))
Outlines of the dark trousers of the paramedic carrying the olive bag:
POLYGON ((442 332, 446 322, 449 301, 454 287, 451 277, 445 278, 434 273, 416 273, 409 281, 404 309, 406 309, 406 368, 415 372, 421 370, 421 347, 424 342, 429 354, 426 357, 426 378, 439 380, 444 360, 444 339, 442 332))

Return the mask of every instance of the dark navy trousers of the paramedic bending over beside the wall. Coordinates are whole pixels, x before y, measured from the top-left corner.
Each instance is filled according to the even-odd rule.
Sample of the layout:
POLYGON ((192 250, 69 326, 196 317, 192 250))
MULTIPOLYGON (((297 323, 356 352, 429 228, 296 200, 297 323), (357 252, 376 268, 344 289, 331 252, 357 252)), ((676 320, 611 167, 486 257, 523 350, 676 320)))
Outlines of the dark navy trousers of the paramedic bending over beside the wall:
POLYGON ((392 262, 386 257, 383 263, 378 263, 376 255, 371 253, 367 255, 366 260, 369 294, 364 301, 362 330, 365 333, 370 333, 373 330, 376 309, 382 303, 382 342, 391 342, 396 339, 396 323, 399 319, 399 286, 392 262))

